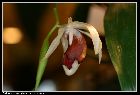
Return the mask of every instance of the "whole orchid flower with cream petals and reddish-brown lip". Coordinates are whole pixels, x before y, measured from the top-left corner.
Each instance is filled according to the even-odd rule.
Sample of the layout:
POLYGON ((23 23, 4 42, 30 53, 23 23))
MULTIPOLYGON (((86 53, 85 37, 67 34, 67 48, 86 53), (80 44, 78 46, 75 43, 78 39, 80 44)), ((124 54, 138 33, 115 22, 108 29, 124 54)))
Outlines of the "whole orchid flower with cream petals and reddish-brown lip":
POLYGON ((68 24, 62 25, 58 29, 58 35, 52 41, 44 57, 48 59, 61 42, 64 50, 62 66, 65 74, 68 76, 73 75, 77 71, 80 62, 83 61, 86 56, 87 45, 81 33, 92 39, 95 54, 99 55, 100 64, 102 57, 102 42, 97 30, 90 24, 78 21, 73 22, 71 17, 68 18, 68 24))

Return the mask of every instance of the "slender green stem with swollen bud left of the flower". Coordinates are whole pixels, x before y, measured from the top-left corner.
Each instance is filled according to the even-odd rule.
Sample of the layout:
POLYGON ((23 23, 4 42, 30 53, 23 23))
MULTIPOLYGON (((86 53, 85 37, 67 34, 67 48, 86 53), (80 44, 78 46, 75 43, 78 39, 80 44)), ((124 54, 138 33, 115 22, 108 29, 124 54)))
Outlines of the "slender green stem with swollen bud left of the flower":
POLYGON ((51 34, 56 30, 56 28, 59 26, 59 17, 58 17, 58 13, 57 13, 57 5, 56 8, 54 8, 54 15, 56 18, 56 24, 52 27, 52 29, 50 30, 50 32, 48 33, 48 35, 46 36, 41 51, 40 51, 40 57, 39 57, 39 66, 38 66, 38 70, 37 70, 37 75, 36 75, 36 84, 35 84, 35 89, 37 90, 39 83, 41 81, 41 78, 43 76, 43 73, 45 71, 46 65, 47 65, 47 59, 44 59, 44 56, 49 48, 49 38, 51 36, 51 34))

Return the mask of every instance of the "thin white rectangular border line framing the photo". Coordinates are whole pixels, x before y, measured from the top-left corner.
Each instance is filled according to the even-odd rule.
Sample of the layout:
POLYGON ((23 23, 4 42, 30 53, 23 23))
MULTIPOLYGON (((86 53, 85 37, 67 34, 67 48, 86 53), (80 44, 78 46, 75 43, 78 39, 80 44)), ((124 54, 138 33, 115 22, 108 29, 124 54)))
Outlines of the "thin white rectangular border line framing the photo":
MULTIPOLYGON (((3 4, 4 3, 135 3, 136 4, 136 91, 53 91, 53 92, 137 92, 137 2, 2 2, 2 92, 4 94, 10 94, 10 92, 14 92, 16 94, 27 94, 38 92, 44 94, 46 92, 40 91, 3 91, 3 4), (26 93, 24 93, 26 92, 26 93)), ((47 91, 52 92, 52 91, 47 91)), ((35 93, 36 94, 36 93, 35 93)))

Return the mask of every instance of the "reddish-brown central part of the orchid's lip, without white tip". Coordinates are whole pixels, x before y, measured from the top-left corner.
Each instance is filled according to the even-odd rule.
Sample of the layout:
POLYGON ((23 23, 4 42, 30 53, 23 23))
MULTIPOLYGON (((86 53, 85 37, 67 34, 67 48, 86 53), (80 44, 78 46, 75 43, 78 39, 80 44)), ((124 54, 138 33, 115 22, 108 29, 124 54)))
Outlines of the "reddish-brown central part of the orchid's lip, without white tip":
POLYGON ((76 37, 73 36, 73 42, 71 46, 68 47, 64 53, 63 64, 67 66, 68 69, 72 68, 74 60, 81 62, 86 56, 87 45, 85 38, 83 36, 76 37))

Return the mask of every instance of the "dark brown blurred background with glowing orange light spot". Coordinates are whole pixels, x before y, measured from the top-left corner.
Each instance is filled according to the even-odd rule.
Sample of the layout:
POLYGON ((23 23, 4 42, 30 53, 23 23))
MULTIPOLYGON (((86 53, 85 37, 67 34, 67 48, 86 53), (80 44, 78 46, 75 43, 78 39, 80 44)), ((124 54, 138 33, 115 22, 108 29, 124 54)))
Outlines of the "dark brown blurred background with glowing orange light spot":
MULTIPOLYGON (((55 24, 53 3, 3 4, 3 90, 28 91, 35 86, 39 53, 47 33, 55 24)), ((50 56, 39 91, 116 91, 118 77, 111 63, 105 38, 104 15, 108 4, 57 4, 60 23, 73 20, 92 24, 103 42, 103 57, 98 64, 91 39, 85 36, 88 52, 78 71, 66 76, 62 68, 62 46, 50 56)), ((54 32, 50 42, 57 35, 54 32)))

